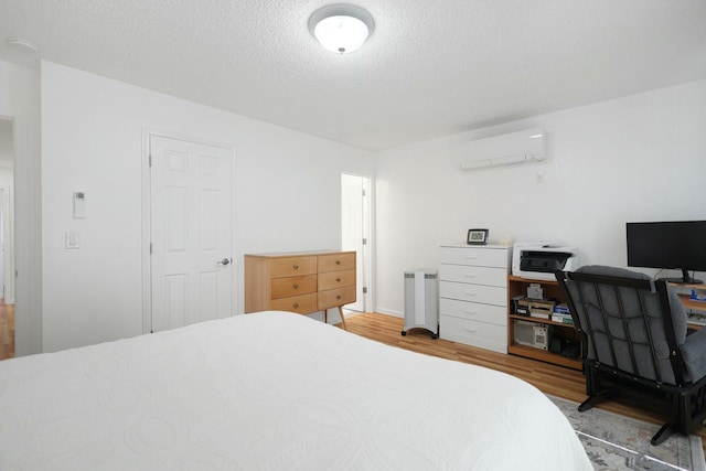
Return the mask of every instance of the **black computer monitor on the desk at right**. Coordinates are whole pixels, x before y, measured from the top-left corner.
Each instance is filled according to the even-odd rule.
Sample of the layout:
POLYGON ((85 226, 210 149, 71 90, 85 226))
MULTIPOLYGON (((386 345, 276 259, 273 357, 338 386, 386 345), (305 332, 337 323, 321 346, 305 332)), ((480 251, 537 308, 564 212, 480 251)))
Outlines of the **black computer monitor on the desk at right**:
POLYGON ((688 271, 706 271, 706 221, 627 223, 628 266, 680 269, 680 283, 702 283, 688 271))

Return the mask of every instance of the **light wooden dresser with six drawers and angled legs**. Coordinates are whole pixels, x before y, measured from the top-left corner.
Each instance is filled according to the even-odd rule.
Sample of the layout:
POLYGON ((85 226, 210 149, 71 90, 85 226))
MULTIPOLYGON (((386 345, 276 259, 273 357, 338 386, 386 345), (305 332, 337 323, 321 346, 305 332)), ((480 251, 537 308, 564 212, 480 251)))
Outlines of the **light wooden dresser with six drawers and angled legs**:
POLYGON ((307 251, 245 256, 245 312, 300 314, 355 302, 355 251, 307 251))

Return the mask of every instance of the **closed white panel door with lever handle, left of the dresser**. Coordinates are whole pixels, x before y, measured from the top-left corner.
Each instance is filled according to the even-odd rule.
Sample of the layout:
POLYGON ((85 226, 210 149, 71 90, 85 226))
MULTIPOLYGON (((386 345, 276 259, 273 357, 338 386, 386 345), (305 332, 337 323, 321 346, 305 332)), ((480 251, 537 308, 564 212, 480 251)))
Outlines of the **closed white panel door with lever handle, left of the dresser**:
POLYGON ((150 136, 151 330, 231 315, 231 149, 150 136))

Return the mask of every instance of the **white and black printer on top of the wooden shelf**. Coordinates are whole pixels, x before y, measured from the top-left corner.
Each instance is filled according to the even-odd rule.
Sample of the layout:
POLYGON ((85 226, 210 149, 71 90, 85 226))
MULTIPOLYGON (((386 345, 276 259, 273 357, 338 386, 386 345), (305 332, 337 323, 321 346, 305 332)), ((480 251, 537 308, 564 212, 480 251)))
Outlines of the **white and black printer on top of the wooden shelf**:
POLYGON ((578 268, 576 247, 550 242, 517 242, 512 250, 512 274, 536 280, 554 280, 555 270, 578 268))

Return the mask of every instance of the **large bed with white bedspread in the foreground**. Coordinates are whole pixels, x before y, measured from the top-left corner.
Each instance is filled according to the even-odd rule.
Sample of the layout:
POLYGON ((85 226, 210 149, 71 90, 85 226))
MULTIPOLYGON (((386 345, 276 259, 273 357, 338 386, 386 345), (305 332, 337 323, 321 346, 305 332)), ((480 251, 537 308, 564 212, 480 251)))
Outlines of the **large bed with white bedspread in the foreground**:
POLYGON ((0 362, 0 470, 589 470, 536 388, 261 312, 0 362))

